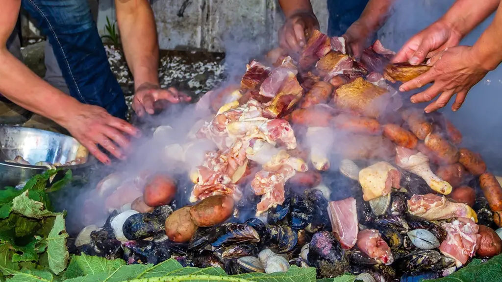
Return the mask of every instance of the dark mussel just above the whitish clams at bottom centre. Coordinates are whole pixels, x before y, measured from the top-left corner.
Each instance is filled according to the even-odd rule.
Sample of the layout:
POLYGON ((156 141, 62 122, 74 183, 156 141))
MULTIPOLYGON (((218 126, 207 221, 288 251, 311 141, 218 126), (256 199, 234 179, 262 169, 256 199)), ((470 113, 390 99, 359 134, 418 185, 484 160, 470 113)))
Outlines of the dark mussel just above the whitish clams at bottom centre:
POLYGON ((276 253, 291 251, 298 243, 298 233, 289 226, 269 225, 265 244, 276 253))

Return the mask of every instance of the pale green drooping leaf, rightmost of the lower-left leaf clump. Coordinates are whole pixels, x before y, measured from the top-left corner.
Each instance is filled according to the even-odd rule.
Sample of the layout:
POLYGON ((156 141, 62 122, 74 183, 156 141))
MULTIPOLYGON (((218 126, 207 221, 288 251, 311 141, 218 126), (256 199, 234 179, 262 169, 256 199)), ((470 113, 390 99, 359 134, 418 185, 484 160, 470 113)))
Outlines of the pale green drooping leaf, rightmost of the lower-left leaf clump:
POLYGON ((68 258, 68 248, 66 247, 66 238, 68 233, 65 230, 65 220, 62 214, 56 216, 54 226, 47 237, 47 255, 49 257, 49 266, 55 274, 59 274, 66 268, 68 258))

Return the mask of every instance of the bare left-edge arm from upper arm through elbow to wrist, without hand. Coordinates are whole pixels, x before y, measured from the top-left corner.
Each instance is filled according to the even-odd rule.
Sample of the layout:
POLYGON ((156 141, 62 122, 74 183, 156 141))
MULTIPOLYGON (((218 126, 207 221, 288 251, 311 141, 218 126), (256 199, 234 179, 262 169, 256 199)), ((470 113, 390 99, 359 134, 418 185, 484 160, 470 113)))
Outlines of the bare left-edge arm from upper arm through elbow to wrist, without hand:
POLYGON ((0 9, 0 92, 14 103, 59 124, 79 102, 39 78, 7 50, 21 0, 3 0, 0 9))

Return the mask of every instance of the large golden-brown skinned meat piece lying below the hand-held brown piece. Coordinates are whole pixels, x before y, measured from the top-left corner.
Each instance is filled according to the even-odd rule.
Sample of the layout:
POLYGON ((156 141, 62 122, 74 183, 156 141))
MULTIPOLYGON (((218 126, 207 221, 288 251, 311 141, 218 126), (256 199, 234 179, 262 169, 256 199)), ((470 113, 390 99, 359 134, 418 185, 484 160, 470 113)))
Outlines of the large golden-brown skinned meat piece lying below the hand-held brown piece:
POLYGON ((335 90, 335 102, 341 109, 354 110, 369 117, 379 117, 390 101, 387 89, 359 77, 335 90))

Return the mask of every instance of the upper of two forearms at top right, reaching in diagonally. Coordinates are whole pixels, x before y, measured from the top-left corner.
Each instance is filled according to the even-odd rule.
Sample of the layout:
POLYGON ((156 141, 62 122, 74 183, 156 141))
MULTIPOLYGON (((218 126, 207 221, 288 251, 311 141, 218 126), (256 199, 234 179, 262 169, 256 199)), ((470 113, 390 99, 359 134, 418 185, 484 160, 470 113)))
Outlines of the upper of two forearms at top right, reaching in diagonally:
POLYGON ((439 21, 463 38, 491 15, 499 3, 500 0, 457 0, 439 21))

